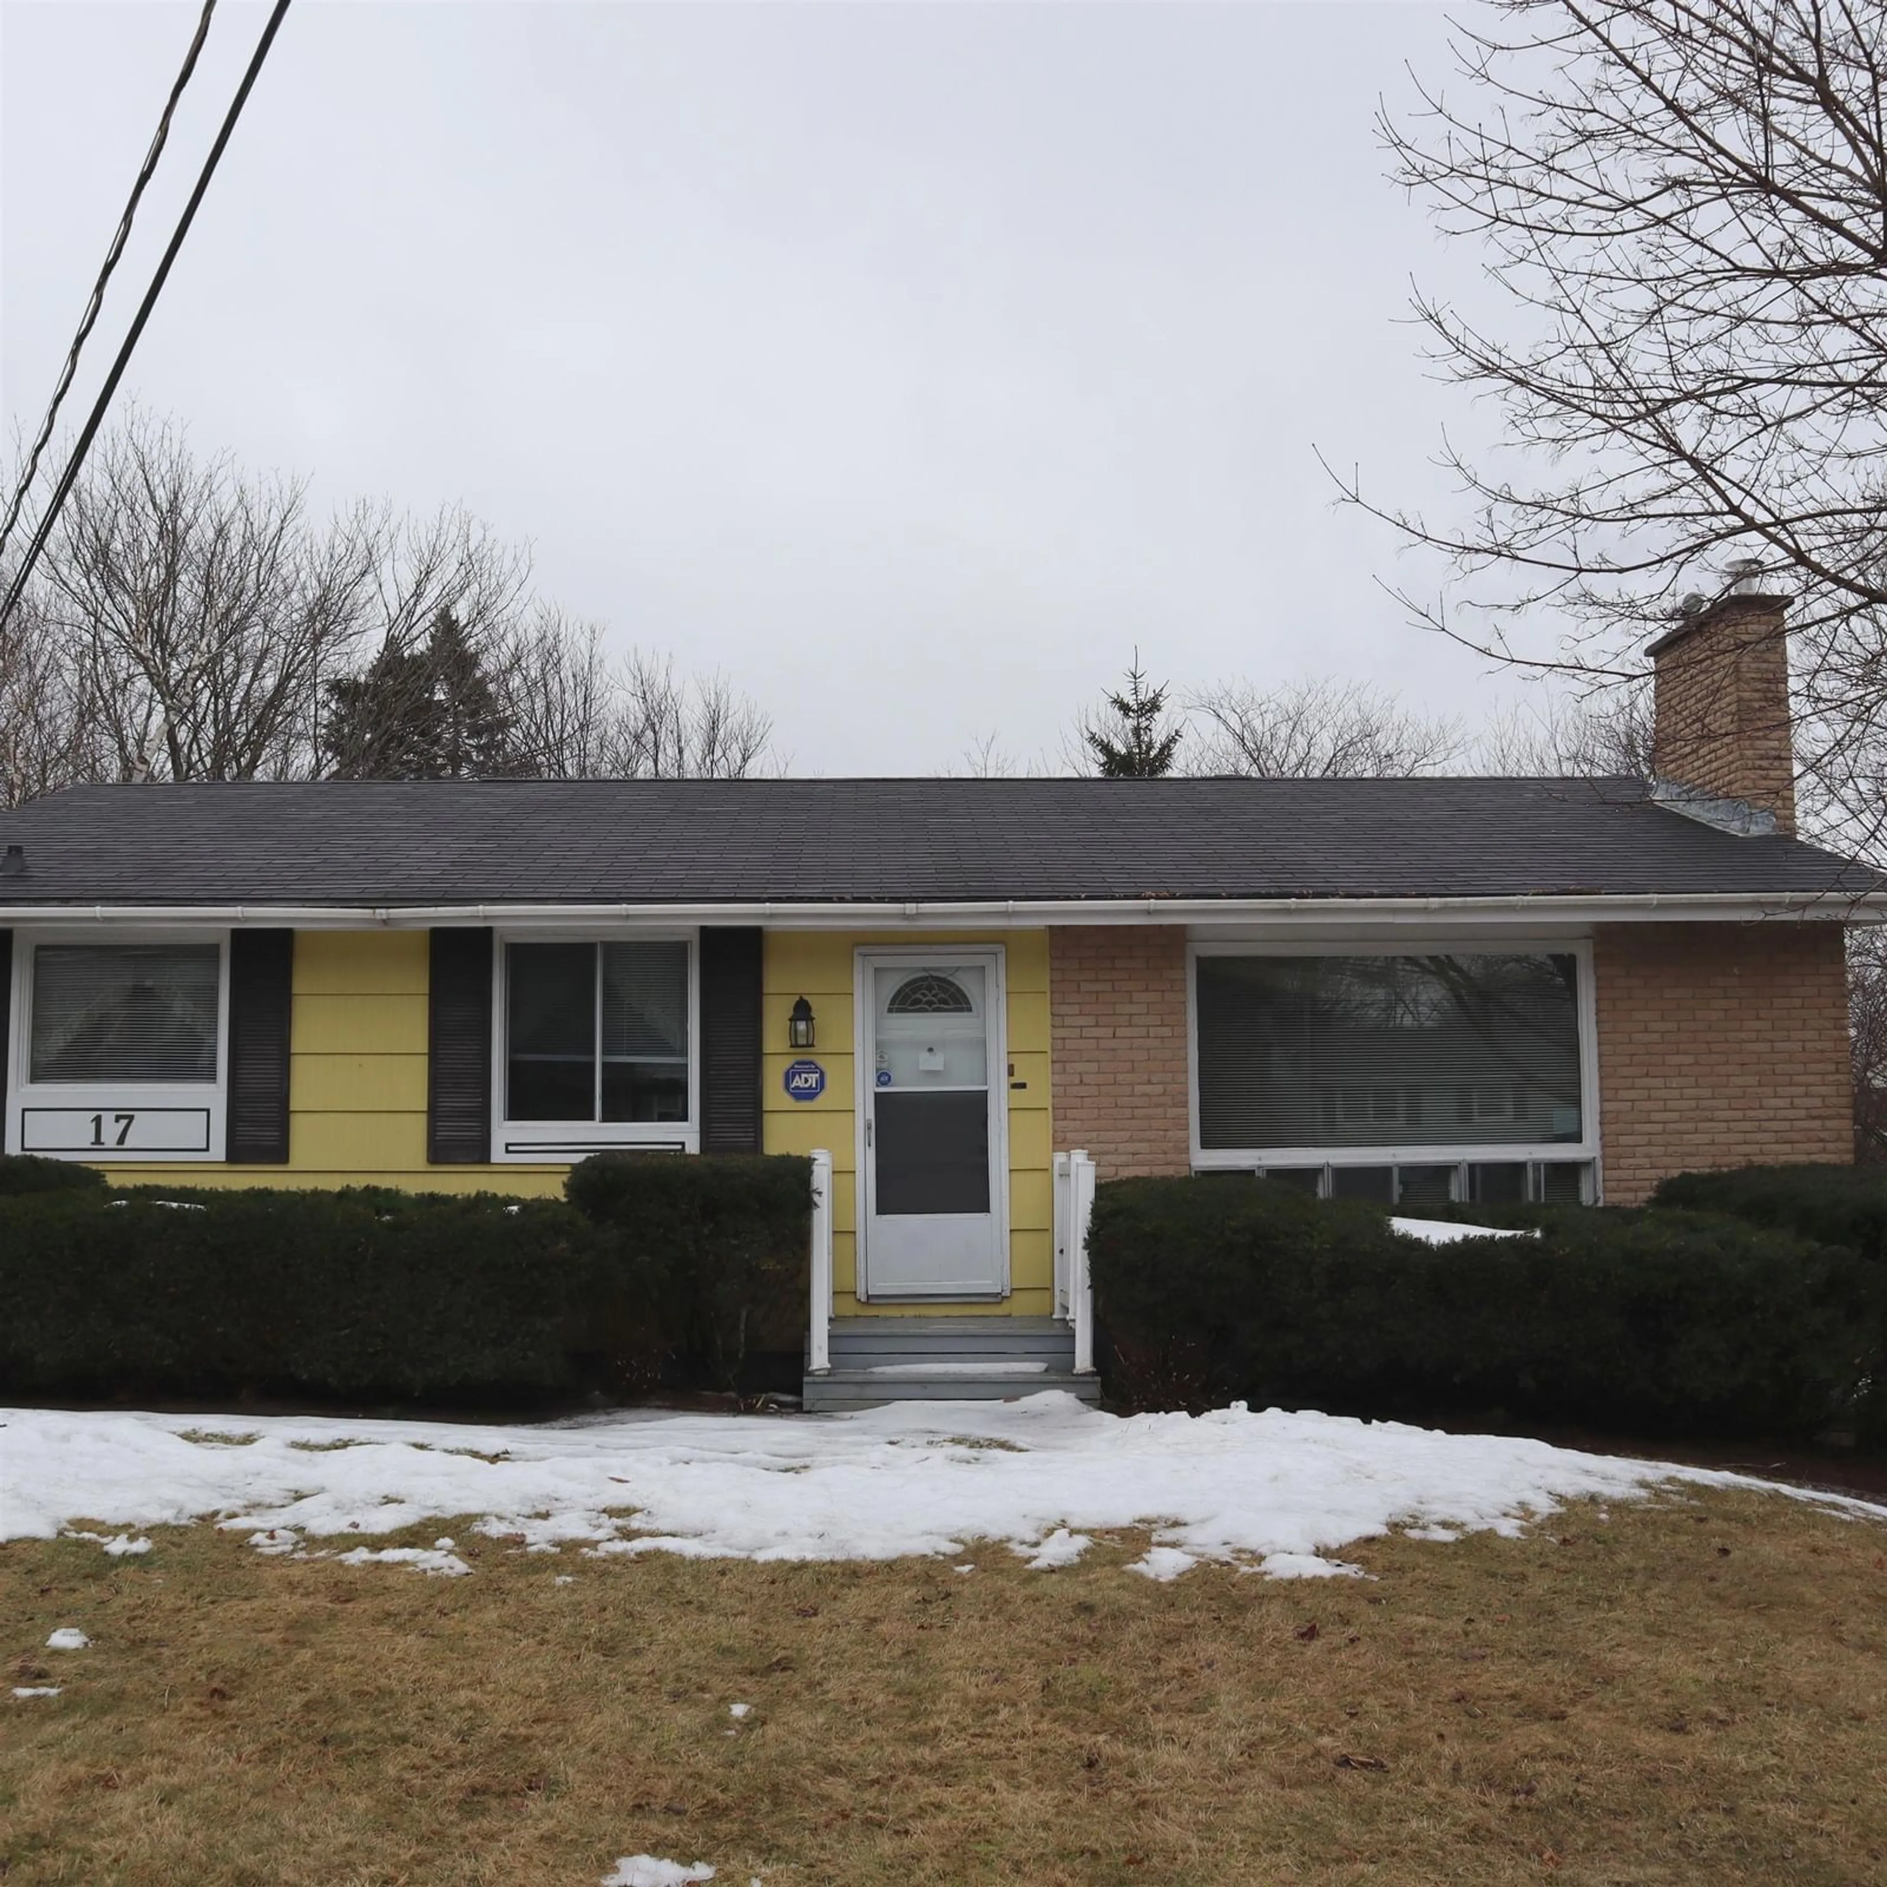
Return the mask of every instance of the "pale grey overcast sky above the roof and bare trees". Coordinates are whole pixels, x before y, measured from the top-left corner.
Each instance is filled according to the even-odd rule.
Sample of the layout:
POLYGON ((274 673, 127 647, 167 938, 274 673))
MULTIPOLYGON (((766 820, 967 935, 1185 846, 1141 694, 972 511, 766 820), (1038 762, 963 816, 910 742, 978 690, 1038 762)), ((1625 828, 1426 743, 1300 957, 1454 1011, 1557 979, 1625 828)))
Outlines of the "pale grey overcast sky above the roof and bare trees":
MULTIPOLYGON (((51 391, 196 6, 0 6, 0 404, 51 391)), ((68 411, 262 25, 225 0, 68 411)), ((1313 447, 1445 509, 1372 115, 1440 8, 300 0, 126 381, 323 506, 462 502, 794 772, 1055 755, 1138 643, 1478 719, 1313 447)))

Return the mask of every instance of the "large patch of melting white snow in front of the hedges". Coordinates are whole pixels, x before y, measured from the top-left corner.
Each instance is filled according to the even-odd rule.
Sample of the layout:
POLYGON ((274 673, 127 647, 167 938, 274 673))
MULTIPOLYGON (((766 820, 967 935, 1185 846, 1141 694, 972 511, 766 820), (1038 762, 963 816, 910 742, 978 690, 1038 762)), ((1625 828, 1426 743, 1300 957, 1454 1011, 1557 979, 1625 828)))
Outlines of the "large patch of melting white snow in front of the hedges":
MULTIPOLYGON (((1049 1568, 1079 1559, 1096 1530, 1151 1527, 1136 1568, 1149 1576, 1217 1559, 1304 1578, 1349 1570, 1342 1549, 1391 1528, 1513 1534, 1562 1500, 1628 1500, 1668 1481, 1766 1485, 1279 1410, 1102 1415, 1059 1393, 843 1417, 513 1427, 0 1411, 0 1538, 213 1519, 277 1553, 477 1515, 479 1532, 536 1547, 960 1559, 998 1540, 1049 1568)), ((1864 1502, 1825 1504, 1887 1521, 1864 1502)), ((108 1549, 138 1544, 119 1534, 108 1549)), ((443 1557, 404 1562, 466 1570, 443 1557)))

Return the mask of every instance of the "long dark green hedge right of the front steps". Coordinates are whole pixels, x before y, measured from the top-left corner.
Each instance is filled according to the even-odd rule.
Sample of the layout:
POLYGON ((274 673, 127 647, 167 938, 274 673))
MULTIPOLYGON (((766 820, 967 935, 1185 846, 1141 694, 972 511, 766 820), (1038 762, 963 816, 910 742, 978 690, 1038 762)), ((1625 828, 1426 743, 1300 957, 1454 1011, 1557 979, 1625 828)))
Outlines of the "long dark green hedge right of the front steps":
POLYGON ((1428 1245, 1262 1179, 1110 1181, 1091 1261, 1113 1389, 1661 1434, 1866 1427, 1881 1268, 1723 1215, 1528 1217, 1542 1236, 1428 1245))

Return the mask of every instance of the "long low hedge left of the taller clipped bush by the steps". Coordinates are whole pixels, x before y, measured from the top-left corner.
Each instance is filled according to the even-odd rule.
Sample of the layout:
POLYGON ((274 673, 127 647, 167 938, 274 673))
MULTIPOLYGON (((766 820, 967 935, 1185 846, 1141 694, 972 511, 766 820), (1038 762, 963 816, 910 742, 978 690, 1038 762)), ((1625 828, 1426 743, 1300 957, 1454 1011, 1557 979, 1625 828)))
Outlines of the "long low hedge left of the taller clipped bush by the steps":
POLYGON ((0 1200, 0 1387, 543 1400, 579 1385, 593 1289, 555 1200, 40 1193, 0 1200))

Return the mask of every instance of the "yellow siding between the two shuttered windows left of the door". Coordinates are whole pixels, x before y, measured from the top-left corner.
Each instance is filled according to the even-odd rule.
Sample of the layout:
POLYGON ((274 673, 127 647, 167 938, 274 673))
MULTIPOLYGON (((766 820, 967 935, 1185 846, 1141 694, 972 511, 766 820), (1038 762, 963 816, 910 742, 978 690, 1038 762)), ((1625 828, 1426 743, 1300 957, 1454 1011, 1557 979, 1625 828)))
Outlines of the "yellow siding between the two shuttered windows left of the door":
POLYGON ((298 930, 289 1164, 108 1166, 125 1185, 392 1185, 555 1196, 568 1164, 426 1164, 425 930, 298 930))

